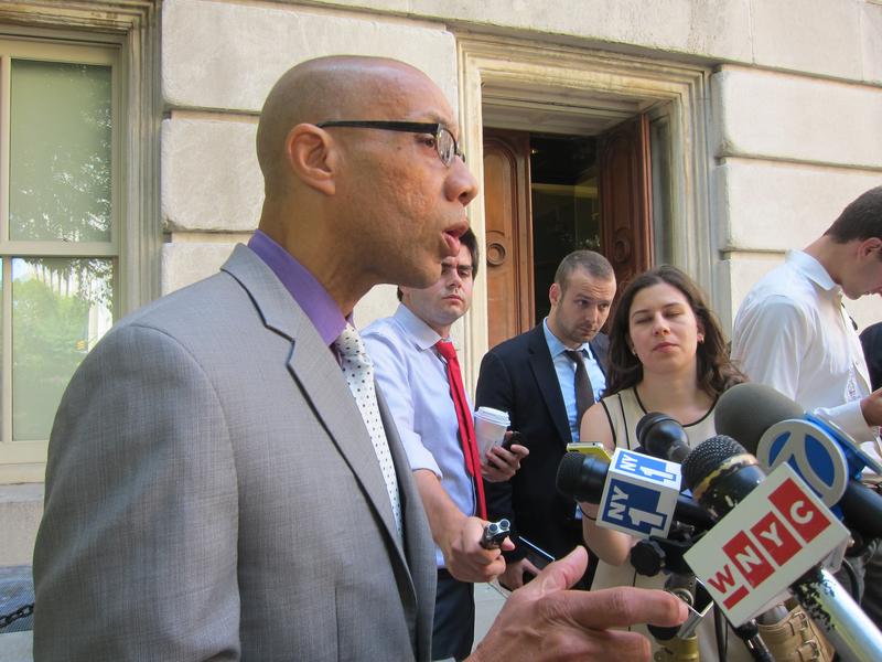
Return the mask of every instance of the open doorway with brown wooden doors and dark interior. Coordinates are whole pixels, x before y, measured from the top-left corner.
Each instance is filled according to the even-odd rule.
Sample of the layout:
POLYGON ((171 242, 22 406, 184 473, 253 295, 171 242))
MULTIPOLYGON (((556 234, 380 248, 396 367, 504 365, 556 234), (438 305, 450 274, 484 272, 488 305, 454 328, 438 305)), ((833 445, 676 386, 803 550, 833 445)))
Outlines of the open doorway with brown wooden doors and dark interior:
POLYGON ((648 118, 596 136, 484 130, 487 340, 548 314, 572 250, 606 256, 620 284, 653 265, 648 118))

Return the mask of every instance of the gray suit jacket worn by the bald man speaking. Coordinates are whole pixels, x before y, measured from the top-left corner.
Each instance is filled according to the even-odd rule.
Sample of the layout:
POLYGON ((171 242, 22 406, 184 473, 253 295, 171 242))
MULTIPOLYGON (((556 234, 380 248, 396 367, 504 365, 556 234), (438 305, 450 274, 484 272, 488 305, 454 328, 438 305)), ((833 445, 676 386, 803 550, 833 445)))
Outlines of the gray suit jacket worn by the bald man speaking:
POLYGON ((35 659, 428 659, 433 543, 380 408, 404 545, 340 366, 254 253, 122 320, 52 431, 35 659))

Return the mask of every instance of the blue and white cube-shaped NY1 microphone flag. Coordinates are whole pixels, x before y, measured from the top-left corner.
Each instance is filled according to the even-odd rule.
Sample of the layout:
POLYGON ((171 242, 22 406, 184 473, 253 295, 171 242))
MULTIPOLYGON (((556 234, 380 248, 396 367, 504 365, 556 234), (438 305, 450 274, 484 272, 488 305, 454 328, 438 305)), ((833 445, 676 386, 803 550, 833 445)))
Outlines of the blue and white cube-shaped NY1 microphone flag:
POLYGON ((616 448, 598 510, 598 526, 639 538, 665 537, 680 493, 680 466, 616 448))

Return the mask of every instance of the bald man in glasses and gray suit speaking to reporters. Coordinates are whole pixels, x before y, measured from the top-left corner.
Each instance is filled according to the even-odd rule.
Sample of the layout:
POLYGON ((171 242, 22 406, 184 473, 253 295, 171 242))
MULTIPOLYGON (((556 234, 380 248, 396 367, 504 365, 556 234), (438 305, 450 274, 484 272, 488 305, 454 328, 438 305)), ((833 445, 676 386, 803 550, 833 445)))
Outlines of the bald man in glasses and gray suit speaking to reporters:
MULTIPOLYGON (((347 320, 374 285, 428 287, 458 254, 477 189, 455 132, 402 63, 329 57, 276 84, 249 245, 120 321, 63 398, 37 661, 429 658, 433 544, 347 320)), ((685 618, 658 591, 563 590, 584 564, 516 592, 473 659, 648 659, 607 628, 685 618)))

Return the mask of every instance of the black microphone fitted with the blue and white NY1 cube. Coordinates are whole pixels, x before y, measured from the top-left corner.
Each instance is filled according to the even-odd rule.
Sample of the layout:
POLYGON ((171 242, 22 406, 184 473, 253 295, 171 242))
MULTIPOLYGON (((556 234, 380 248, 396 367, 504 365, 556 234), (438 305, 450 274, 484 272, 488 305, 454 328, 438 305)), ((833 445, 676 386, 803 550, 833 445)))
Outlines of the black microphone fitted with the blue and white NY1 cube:
MULTIPOLYGON (((633 453, 633 451, 628 452, 633 453)), ((568 452, 561 458, 560 465, 558 465, 556 481, 558 491, 564 496, 569 496, 576 501, 601 503, 607 482, 606 479, 610 473, 610 467, 611 465, 609 462, 604 462, 594 456, 587 456, 581 452, 568 452)), ((646 485, 644 481, 643 487, 647 487, 649 490, 657 490, 655 483, 646 485)), ((655 508, 657 508, 657 505, 655 508)), ((598 524, 600 526, 603 526, 605 522, 610 520, 609 500, 606 511, 605 519, 602 516, 604 513, 598 513, 598 524)), ((657 514, 666 517, 668 521, 673 519, 682 524, 689 524, 697 531, 707 531, 713 526, 713 519, 703 508, 688 496, 679 493, 673 510, 665 509, 662 512, 657 512, 657 514)), ((639 519, 635 517, 635 520, 639 519)), ((641 531, 630 530, 626 533, 638 537, 648 537, 641 531)))

